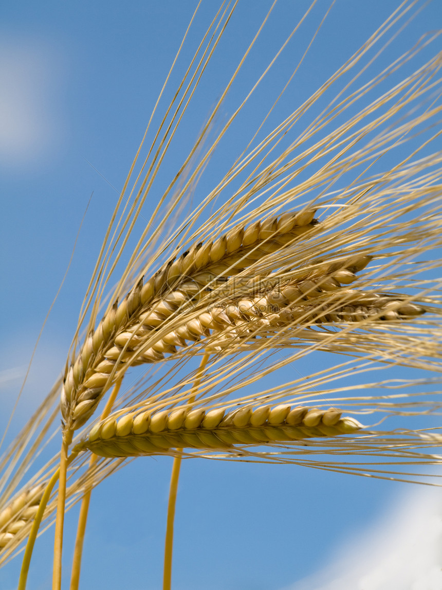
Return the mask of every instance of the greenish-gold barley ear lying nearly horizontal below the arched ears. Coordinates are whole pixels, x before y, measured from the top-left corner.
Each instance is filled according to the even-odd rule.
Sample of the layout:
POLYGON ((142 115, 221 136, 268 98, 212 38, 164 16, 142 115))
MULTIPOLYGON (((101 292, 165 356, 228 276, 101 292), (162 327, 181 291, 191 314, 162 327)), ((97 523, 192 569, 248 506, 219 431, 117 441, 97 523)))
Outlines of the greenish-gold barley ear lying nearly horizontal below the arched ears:
POLYGON ((177 408, 113 416, 95 425, 77 448, 102 457, 135 457, 169 453, 172 448, 234 449, 235 445, 292 442, 312 437, 336 437, 360 430, 354 418, 337 409, 269 405, 223 408, 177 408))

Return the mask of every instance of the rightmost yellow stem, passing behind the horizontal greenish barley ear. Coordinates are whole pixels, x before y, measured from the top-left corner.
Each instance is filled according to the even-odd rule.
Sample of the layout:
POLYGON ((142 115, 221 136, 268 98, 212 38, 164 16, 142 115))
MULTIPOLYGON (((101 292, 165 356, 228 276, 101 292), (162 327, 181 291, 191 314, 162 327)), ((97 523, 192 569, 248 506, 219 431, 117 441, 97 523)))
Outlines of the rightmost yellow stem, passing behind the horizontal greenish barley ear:
MULTIPOLYGON (((192 404, 192 402, 195 401, 196 394, 201 382, 202 373, 204 371, 204 367, 207 365, 207 360, 209 360, 209 353, 205 353, 201 360, 196 379, 193 383, 192 396, 189 398, 189 404, 192 404)), ((181 451, 182 449, 177 449, 178 453, 181 451)), ((169 504, 167 504, 166 540, 164 542, 163 590, 170 590, 172 581, 173 525, 175 520, 176 495, 178 490, 178 481, 180 478, 181 461, 182 457, 174 458, 172 473, 170 476, 169 504)))

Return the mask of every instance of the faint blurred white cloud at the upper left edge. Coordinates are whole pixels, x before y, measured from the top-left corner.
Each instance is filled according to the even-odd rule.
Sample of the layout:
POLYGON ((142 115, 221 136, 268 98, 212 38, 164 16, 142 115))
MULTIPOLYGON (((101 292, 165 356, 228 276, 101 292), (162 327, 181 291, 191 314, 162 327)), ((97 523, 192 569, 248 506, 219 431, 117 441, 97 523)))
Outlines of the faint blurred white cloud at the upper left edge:
POLYGON ((54 51, 38 41, 0 42, 0 161, 27 165, 57 139, 54 51))

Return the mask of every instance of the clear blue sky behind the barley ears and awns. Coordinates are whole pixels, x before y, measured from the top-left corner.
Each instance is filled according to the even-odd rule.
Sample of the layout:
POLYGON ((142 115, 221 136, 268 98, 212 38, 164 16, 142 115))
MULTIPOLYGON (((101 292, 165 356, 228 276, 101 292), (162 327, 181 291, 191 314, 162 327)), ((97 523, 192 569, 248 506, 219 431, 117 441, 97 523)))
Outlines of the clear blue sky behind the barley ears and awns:
MULTIPOLYGON (((1 426, 93 194, 70 273, 45 327, 12 431, 31 414, 64 365, 117 191, 195 4, 43 1, 6 2, 0 9, 4 253, 0 385, 5 408, 1 426)), ((215 4, 203 2, 195 39, 215 4)), ((240 1, 215 67, 207 74, 204 93, 196 95, 184 125, 190 145, 269 5, 262 0, 240 1)), ((339 67, 396 5, 392 0, 337 0, 281 101, 281 116, 339 67)), ((268 62, 266 56, 279 47, 306 6, 304 1, 279 2, 256 53, 226 100, 222 117, 232 113, 268 62)), ((263 86, 263 97, 281 89, 328 6, 322 0, 315 6, 263 86)), ((435 0, 398 38, 391 55, 440 26, 441 17, 442 5, 435 0)), ((193 43, 191 39, 184 57, 190 55, 193 43)), ((436 44, 440 49, 440 41, 436 44)), ((434 51, 428 50, 427 55, 434 51)), ((230 152, 239 152, 238 146, 263 113, 260 100, 258 96, 252 101, 230 134, 229 145, 222 146, 211 163, 214 173, 224 171, 230 152)), ((180 150, 174 156, 179 158, 180 150)), ((168 174, 165 170, 164 178, 168 174)), ((206 178, 199 190, 203 194, 209 188, 206 178)), ((141 458, 94 491, 81 588, 160 587, 170 466, 169 458, 141 458)), ((177 503, 173 587, 290 588, 321 570, 342 543, 348 539, 357 543, 367 527, 378 519, 385 521, 385 515, 405 502, 401 498, 407 494, 410 491, 403 484, 289 465, 187 461, 177 503)), ((417 495, 413 498, 418 503, 417 495)), ((72 510, 67 517, 65 570, 76 515, 72 510)), ((48 588, 51 546, 52 532, 47 532, 35 549, 29 590, 48 588)), ((17 572, 18 560, 1 570, 0 588, 14 588, 17 572)), ((382 588, 370 586, 370 590, 382 588)))

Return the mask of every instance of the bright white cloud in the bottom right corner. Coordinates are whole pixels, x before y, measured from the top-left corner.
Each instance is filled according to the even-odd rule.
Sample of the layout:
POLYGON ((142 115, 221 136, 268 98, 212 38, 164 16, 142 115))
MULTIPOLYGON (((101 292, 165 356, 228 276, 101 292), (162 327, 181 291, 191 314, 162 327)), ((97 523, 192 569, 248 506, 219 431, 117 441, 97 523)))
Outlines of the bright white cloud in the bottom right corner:
POLYGON ((338 548, 321 572, 286 590, 440 590, 441 568, 441 491, 421 488, 338 548))

